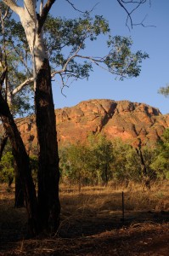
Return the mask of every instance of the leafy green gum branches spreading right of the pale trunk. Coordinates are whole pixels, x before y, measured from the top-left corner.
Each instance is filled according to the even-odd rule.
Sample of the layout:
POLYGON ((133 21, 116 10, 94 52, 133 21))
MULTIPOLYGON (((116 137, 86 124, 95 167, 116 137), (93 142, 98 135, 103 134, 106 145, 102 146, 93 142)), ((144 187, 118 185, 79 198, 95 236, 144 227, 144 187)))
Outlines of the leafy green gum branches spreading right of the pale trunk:
POLYGON ((86 13, 77 19, 54 18, 50 15, 44 32, 53 69, 64 69, 66 65, 62 73, 63 81, 65 78, 88 79, 90 71, 93 71, 93 64, 107 68, 120 79, 137 77, 142 60, 149 57, 141 51, 132 53, 131 38, 112 38, 109 23, 102 15, 92 18, 86 13), (80 54, 87 47, 88 40, 95 41, 100 35, 109 36, 107 55, 93 58, 80 54))

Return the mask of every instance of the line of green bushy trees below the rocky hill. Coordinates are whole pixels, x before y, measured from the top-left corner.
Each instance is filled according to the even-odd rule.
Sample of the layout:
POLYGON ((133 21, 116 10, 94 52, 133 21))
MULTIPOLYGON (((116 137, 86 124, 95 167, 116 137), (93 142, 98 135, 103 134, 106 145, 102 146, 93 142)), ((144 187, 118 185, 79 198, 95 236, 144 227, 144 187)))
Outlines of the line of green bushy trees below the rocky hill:
MULTIPOLYGON (((32 172, 37 183, 37 155, 30 156, 32 172)), ((116 139, 113 143, 104 136, 88 137, 86 144, 76 143, 59 149, 60 183, 107 185, 117 183, 149 183, 169 178, 169 129, 155 148, 139 147, 116 139)), ((0 181, 14 179, 14 157, 8 146, 0 162, 0 181)))

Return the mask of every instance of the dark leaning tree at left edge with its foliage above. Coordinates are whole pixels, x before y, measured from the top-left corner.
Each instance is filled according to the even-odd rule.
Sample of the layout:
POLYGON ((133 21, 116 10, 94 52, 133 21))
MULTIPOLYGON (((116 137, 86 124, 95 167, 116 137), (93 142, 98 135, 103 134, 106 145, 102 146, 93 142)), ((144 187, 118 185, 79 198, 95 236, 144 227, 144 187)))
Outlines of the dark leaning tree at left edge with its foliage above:
MULTIPOLYGON (((20 56, 14 51, 12 41, 12 33, 14 28, 14 20, 10 20, 11 12, 8 8, 5 8, 3 3, 1 3, 0 9, 1 15, 1 26, 0 26, 0 40, 1 40, 1 55, 0 55, 0 116, 3 122, 3 127, 6 133, 4 138, 7 137, 10 139, 12 145, 12 151, 14 154, 14 160, 17 165, 17 177, 16 177, 16 201, 22 205, 23 201, 18 201, 18 193, 20 190, 20 182, 22 183, 22 189, 25 194, 25 207, 28 213, 28 223, 31 230, 31 233, 36 233, 38 228, 38 218, 37 218, 37 198, 34 184, 31 178, 31 168, 28 154, 25 151, 24 143, 20 137, 20 131, 18 130, 15 122, 14 115, 15 113, 21 112, 23 109, 22 96, 18 97, 18 100, 14 99, 14 95, 20 92, 19 86, 17 89, 15 85, 17 82, 21 82, 25 79, 23 73, 18 72, 17 63, 20 59, 20 56), (12 32, 10 31, 12 29, 12 32), (16 111, 17 108, 17 111, 16 111)), ((20 50, 21 52, 21 50, 20 50)), ((25 102, 25 105, 27 103, 25 102)), ((25 111, 25 109, 24 109, 25 111)), ((4 143, 2 144, 4 146, 4 143)), ((3 149, 3 148, 2 148, 3 149)), ((3 151, 3 150, 2 150, 3 151)), ((14 167, 16 167, 14 165, 14 167)), ((21 196, 22 197, 22 196, 21 196)), ((21 198, 20 197, 20 198, 21 198)), ((23 198, 23 197, 22 197, 23 198)))

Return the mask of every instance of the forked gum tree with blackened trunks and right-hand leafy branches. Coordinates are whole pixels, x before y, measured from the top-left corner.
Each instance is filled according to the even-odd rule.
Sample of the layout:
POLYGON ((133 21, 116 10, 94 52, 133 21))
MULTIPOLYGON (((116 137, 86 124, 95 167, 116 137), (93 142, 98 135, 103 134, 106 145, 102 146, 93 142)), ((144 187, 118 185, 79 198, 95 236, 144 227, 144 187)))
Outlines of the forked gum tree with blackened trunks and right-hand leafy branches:
MULTIPOLYGON (((21 39, 21 42, 24 40, 25 44, 28 44, 31 54, 32 76, 28 75, 15 91, 20 90, 26 84, 33 83, 39 163, 37 197, 32 185, 30 168, 28 167, 30 165, 26 159, 23 142, 3 96, 0 103, 4 107, 2 108, 3 121, 6 122, 8 119, 9 126, 4 126, 11 137, 11 141, 14 142, 13 148, 20 148, 18 164, 21 161, 28 168, 25 172, 20 170, 20 177, 23 187, 26 188, 25 200, 31 199, 27 204, 27 211, 29 212, 31 209, 31 219, 34 220, 32 229, 34 230, 37 229, 37 216, 40 230, 50 228, 56 230, 59 225, 59 156, 51 77, 58 74, 63 86, 65 86, 67 79, 87 78, 93 64, 119 75, 121 79, 137 77, 141 70, 142 60, 148 57, 141 51, 133 54, 131 51, 132 40, 119 36, 114 38, 109 36, 107 55, 100 57, 83 55, 82 50, 86 47, 87 39, 93 41, 98 38, 99 34, 110 32, 108 23, 102 16, 95 16, 92 20, 88 12, 84 14, 83 18, 77 20, 51 19, 48 12, 54 2, 54 0, 48 0, 43 5, 43 1, 37 4, 36 0, 25 0, 19 5, 14 0, 3 0, 3 3, 19 15, 22 27, 19 28, 20 26, 18 26, 17 28, 19 31, 18 38, 21 39), (22 38, 20 29, 25 31, 25 36, 22 38), (46 40, 44 39, 45 34, 46 40), (65 48, 69 50, 68 55, 62 52, 65 48), (16 145, 18 146, 16 147, 16 145), (24 154, 21 154, 21 151, 24 154)), ((70 3, 70 1, 67 2, 70 3)), ((124 3, 124 1, 118 2, 124 3)), ((132 3, 132 1, 129 2, 132 3)), ((128 13, 128 17, 131 17, 130 13, 128 13)), ((7 67, 4 66, 1 75, 2 87, 6 77, 7 67)), ((19 151, 15 150, 15 157, 18 158, 18 156, 19 151)))

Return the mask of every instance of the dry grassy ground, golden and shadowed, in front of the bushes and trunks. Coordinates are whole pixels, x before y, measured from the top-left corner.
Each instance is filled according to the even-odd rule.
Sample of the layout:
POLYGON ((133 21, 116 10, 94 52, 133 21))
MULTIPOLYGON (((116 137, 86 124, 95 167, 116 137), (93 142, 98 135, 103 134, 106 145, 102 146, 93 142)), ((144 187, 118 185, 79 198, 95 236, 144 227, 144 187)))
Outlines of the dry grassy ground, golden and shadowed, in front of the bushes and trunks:
POLYGON ((150 191, 133 183, 87 187, 80 194, 61 186, 60 201, 55 236, 26 239, 25 209, 15 209, 14 189, 0 185, 0 255, 169 255, 169 183, 150 191))

